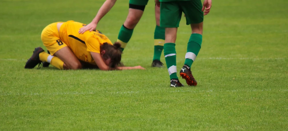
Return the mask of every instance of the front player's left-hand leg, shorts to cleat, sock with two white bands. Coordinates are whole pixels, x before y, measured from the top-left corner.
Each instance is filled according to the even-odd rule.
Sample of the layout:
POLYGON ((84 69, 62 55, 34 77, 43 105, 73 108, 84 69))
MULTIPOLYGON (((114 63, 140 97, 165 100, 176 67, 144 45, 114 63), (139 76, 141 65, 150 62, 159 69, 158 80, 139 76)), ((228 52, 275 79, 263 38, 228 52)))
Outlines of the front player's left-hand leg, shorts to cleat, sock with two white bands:
POLYGON ((171 87, 183 86, 177 77, 175 42, 182 11, 177 1, 161 2, 160 26, 165 27, 164 55, 171 87))

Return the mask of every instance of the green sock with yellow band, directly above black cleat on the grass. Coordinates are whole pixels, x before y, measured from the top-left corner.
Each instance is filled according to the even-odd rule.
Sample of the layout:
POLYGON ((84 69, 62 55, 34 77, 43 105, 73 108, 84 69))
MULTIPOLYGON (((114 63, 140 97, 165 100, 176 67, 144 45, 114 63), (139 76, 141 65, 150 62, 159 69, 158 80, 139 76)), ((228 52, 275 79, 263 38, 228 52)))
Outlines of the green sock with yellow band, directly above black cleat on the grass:
POLYGON ((157 26, 154 31, 154 57, 153 60, 160 60, 165 43, 165 28, 157 26))

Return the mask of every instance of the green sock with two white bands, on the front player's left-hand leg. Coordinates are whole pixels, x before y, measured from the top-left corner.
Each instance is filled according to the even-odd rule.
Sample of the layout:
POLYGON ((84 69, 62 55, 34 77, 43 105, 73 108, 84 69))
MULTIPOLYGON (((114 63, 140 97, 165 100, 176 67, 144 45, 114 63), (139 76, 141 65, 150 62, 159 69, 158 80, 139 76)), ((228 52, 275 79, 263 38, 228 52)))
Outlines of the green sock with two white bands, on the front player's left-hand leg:
POLYGON ((164 44, 164 55, 170 79, 178 79, 176 68, 176 49, 175 43, 164 44))

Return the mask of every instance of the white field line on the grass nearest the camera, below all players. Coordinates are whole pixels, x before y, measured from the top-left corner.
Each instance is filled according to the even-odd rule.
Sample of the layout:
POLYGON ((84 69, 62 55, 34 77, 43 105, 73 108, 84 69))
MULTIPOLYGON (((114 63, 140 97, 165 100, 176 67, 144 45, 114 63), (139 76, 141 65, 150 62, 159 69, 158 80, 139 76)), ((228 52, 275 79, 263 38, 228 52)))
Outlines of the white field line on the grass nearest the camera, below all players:
MULTIPOLYGON (((201 91, 195 91, 195 90, 179 90, 176 89, 174 91, 168 91, 167 93, 183 93, 183 92, 190 92, 190 93, 209 93, 209 92, 287 92, 288 89, 247 89, 247 90, 243 90, 243 89, 235 89, 235 90, 222 90, 222 89, 209 89, 209 90, 201 90, 201 91)), ((157 91, 151 91, 151 92, 139 92, 139 91, 118 91, 118 92, 106 92, 105 94, 143 94, 143 93, 156 93, 157 91)), ((103 93, 101 93, 103 94, 103 93)), ((0 96, 27 96, 27 95, 99 95, 99 92, 53 92, 53 93, 39 93, 39 92, 30 92, 30 93, 0 93, 0 96)))

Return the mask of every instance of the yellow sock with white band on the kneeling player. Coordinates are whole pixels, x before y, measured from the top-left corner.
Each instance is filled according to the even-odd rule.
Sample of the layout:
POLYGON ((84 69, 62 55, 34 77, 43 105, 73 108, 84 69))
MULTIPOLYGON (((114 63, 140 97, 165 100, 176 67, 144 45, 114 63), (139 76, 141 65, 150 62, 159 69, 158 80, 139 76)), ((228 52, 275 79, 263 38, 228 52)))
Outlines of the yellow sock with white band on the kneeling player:
POLYGON ((60 60, 58 57, 56 56, 51 56, 50 54, 46 53, 46 52, 41 52, 39 54, 39 58, 41 61, 45 61, 50 63, 52 66, 58 68, 58 69, 63 69, 63 64, 64 62, 62 60, 60 60))

